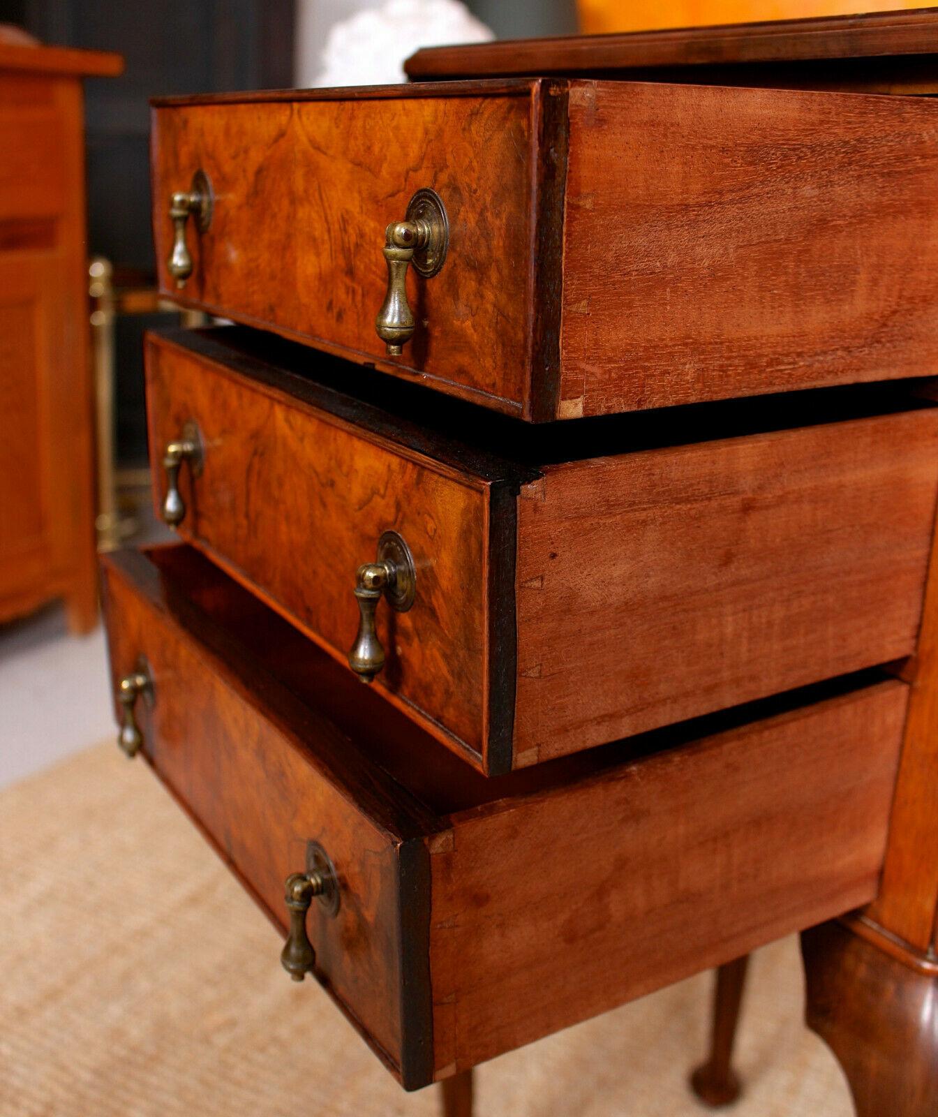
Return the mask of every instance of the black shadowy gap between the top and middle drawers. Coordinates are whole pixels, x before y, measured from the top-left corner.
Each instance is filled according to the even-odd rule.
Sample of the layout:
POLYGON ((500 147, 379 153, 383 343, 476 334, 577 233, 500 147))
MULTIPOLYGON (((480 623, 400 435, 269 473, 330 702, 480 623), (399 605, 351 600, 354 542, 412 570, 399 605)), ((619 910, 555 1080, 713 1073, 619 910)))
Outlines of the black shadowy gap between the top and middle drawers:
POLYGON ((487 480, 542 466, 845 422, 934 407, 934 378, 820 388, 641 412, 530 423, 241 326, 155 333, 276 391, 487 480))

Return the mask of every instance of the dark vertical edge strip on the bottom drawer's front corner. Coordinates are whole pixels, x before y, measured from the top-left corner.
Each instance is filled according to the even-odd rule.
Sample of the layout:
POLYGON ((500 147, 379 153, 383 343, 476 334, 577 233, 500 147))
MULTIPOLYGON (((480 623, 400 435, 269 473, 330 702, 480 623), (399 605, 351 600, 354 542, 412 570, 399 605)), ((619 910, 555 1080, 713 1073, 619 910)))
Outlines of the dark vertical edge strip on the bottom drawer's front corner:
POLYGON ((430 852, 420 838, 398 847, 401 1086, 433 1081, 433 994, 430 984, 430 852))

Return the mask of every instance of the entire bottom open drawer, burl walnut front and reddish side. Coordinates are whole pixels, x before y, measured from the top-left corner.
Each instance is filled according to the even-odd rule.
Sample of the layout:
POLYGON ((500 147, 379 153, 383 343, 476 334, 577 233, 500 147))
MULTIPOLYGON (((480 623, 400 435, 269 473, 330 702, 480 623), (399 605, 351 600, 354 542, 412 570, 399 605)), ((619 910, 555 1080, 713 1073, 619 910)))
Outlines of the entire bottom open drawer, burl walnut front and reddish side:
POLYGON ((875 894, 900 681, 486 779, 186 547, 104 589, 125 731, 281 927, 317 843, 315 975, 406 1087, 875 894))

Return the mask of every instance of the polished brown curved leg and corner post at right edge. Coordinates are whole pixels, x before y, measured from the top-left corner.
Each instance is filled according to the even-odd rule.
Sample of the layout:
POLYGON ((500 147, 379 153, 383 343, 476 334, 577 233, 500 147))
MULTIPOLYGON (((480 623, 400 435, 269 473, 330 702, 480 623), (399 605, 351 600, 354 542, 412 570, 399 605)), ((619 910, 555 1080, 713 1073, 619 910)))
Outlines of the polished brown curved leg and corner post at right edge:
MULTIPOLYGON (((929 384, 926 394, 935 395, 929 384)), ((807 1021, 850 1082, 859 1117, 938 1109, 938 552, 928 574, 901 763, 877 899, 802 938, 807 1021)))

